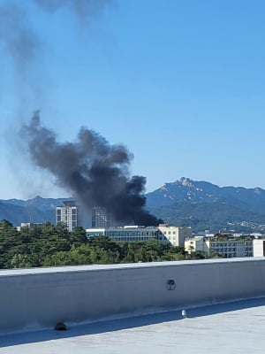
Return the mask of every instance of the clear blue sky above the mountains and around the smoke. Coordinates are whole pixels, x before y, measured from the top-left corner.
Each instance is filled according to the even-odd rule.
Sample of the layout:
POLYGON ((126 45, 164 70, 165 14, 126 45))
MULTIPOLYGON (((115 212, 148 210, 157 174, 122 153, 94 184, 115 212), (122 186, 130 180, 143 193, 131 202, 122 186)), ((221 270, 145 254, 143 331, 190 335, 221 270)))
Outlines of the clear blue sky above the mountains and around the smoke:
POLYGON ((61 141, 86 126, 124 143, 148 191, 182 176, 265 189, 263 1, 112 0, 88 24, 7 3, 38 45, 20 67, 0 36, 0 198, 65 196, 18 150, 35 109, 61 141))

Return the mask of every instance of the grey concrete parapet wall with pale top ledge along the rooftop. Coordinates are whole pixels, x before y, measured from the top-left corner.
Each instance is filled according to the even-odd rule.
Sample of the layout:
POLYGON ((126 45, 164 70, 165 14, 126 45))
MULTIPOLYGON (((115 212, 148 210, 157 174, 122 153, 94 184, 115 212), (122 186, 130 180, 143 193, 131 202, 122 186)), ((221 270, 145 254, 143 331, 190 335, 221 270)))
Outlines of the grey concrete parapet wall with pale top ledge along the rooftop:
POLYGON ((0 271, 0 332, 259 296, 265 258, 0 271))

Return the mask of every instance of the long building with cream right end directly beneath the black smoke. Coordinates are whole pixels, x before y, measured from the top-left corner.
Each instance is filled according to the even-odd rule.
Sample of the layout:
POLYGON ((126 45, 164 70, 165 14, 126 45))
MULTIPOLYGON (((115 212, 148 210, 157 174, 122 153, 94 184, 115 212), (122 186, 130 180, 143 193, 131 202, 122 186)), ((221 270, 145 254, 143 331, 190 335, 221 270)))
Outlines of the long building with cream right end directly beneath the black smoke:
POLYGON ((149 239, 170 242, 173 246, 184 246, 186 237, 191 237, 191 227, 171 227, 161 224, 158 227, 125 226, 125 227, 92 227, 87 228, 87 238, 108 236, 115 241, 143 242, 149 239))

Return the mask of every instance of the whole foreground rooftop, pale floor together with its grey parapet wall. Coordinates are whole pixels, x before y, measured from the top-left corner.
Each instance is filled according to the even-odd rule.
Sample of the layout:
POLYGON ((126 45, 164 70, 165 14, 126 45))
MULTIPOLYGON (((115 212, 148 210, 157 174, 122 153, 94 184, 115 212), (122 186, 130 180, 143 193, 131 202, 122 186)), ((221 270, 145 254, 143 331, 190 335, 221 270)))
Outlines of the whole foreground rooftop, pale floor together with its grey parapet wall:
POLYGON ((3 270, 0 354, 261 353, 264 278, 265 258, 3 270))

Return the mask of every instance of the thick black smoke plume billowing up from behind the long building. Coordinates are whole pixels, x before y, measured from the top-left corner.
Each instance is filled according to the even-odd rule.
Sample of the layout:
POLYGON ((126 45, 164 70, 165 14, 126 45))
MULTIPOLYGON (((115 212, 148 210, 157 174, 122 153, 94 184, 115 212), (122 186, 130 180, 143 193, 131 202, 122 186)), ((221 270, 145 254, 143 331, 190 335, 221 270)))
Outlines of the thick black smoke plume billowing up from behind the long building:
POLYGON ((57 142, 56 135, 42 127, 38 112, 22 128, 22 136, 34 163, 52 173, 87 208, 105 207, 124 223, 156 226, 163 222, 143 209, 146 179, 130 178, 133 157, 125 146, 110 145, 85 127, 79 130, 77 142, 57 142))

